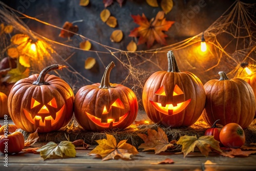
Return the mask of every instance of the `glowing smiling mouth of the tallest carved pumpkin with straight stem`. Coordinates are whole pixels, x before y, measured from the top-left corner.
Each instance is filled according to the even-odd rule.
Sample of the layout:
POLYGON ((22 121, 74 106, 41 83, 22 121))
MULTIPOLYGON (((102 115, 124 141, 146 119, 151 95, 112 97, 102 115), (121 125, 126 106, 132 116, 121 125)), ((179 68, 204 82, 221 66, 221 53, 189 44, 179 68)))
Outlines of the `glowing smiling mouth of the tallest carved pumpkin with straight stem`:
POLYGON ((154 106, 154 108, 165 115, 175 115, 183 111, 186 106, 189 104, 191 99, 186 100, 184 102, 178 103, 177 106, 173 106, 173 104, 166 104, 165 106, 162 106, 161 103, 157 103, 154 101, 151 101, 151 104, 154 106))

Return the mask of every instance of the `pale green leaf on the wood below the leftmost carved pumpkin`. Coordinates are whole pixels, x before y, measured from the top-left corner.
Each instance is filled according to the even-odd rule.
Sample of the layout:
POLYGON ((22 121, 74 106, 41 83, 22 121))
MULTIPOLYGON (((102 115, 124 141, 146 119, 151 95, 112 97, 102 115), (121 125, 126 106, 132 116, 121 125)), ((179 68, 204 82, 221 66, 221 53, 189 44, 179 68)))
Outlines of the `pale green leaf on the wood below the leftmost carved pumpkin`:
POLYGON ((59 144, 50 141, 46 145, 37 149, 37 152, 40 152, 40 156, 44 160, 76 157, 75 145, 70 141, 61 141, 59 144))

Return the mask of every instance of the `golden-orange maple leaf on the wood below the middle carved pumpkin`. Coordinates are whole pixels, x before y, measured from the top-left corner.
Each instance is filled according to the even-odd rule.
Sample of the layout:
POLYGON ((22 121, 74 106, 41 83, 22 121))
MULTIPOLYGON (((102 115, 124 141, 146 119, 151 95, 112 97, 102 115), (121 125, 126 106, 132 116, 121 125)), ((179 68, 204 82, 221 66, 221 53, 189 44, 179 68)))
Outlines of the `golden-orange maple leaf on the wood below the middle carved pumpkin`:
POLYGON ((89 155, 100 155, 102 160, 115 159, 116 156, 131 159, 131 155, 139 153, 133 145, 126 143, 126 141, 122 140, 117 144, 113 135, 106 134, 106 139, 96 141, 99 145, 89 155))

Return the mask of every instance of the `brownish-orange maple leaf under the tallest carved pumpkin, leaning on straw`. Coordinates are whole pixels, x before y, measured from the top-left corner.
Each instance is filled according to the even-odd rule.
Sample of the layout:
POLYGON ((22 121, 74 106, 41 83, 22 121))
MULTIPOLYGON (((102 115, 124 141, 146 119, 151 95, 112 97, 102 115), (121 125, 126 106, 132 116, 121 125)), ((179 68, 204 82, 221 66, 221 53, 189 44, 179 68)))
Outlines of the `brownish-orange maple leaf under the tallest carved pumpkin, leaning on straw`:
POLYGON ((158 132, 156 130, 148 129, 147 135, 138 133, 137 135, 143 139, 144 143, 140 144, 138 148, 144 148, 143 151, 150 149, 155 150, 155 154, 166 151, 168 147, 174 146, 174 144, 168 141, 168 137, 165 132, 158 127, 158 132))

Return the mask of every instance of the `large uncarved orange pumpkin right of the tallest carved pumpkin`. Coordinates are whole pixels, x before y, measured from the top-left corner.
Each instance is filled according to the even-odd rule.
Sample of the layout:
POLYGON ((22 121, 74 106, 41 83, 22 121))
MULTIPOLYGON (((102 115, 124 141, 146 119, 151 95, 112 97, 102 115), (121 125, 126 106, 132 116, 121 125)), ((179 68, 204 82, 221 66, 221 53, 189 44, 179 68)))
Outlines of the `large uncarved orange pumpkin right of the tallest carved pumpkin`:
POLYGON ((229 79, 219 72, 220 79, 212 79, 204 84, 206 92, 203 120, 212 125, 238 123, 245 129, 255 114, 255 97, 251 86, 240 78, 229 79))

